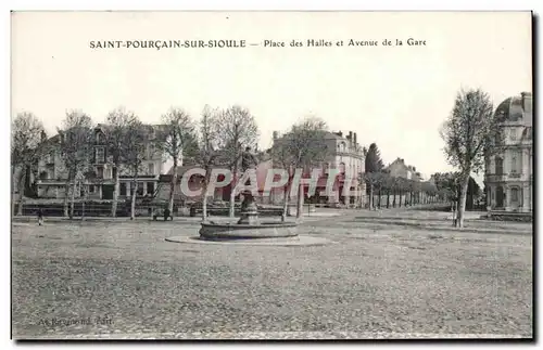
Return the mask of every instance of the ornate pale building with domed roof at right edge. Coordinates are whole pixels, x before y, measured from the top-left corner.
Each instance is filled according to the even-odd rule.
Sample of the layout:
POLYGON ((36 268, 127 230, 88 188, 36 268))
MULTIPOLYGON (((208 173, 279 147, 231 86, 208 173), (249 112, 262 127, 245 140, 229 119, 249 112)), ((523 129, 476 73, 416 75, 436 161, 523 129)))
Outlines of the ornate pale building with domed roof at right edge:
POLYGON ((485 158, 484 182, 489 210, 531 212, 533 209, 532 94, 522 92, 495 111, 504 142, 485 158), (503 148, 503 150, 502 150, 503 148))

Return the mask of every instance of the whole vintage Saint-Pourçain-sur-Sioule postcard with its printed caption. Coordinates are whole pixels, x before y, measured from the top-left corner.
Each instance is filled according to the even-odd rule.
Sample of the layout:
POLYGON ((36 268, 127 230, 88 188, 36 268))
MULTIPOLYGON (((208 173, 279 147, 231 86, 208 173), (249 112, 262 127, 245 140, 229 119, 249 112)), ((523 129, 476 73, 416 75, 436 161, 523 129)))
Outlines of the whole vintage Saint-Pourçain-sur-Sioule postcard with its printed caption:
POLYGON ((532 339, 532 23, 12 12, 12 337, 532 339))

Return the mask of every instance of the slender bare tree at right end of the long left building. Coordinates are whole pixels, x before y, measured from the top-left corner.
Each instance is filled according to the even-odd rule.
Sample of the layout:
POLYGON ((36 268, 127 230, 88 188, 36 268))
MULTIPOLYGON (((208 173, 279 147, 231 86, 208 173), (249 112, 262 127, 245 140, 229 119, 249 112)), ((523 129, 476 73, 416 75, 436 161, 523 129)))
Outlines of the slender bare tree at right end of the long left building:
POLYGON ((190 157, 189 145, 194 142, 194 122, 190 115, 180 108, 171 108, 162 116, 164 130, 161 133, 157 146, 168 157, 173 158, 172 182, 169 185, 169 212, 174 211, 174 197, 177 185, 177 167, 179 160, 190 157))

